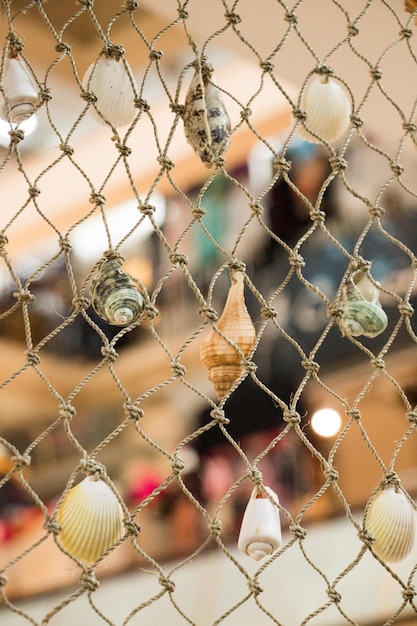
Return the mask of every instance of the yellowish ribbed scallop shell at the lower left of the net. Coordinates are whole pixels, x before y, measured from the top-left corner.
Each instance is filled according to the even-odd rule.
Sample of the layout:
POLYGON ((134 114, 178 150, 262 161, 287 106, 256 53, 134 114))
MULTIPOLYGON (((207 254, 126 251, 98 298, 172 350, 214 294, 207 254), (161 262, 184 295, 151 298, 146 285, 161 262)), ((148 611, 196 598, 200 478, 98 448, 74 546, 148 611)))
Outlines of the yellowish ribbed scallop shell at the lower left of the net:
POLYGON ((68 491, 57 513, 62 546, 81 561, 96 561, 123 535, 123 510, 101 478, 88 476, 68 491))

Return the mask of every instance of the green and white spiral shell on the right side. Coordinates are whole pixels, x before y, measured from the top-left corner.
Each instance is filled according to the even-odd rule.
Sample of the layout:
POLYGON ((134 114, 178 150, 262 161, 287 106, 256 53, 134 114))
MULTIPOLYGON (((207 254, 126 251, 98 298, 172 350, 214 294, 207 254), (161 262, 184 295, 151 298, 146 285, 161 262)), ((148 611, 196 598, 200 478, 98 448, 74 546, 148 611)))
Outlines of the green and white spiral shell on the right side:
POLYGON ((368 270, 354 272, 343 289, 342 331, 352 337, 377 337, 388 326, 388 317, 379 302, 378 288, 368 270))

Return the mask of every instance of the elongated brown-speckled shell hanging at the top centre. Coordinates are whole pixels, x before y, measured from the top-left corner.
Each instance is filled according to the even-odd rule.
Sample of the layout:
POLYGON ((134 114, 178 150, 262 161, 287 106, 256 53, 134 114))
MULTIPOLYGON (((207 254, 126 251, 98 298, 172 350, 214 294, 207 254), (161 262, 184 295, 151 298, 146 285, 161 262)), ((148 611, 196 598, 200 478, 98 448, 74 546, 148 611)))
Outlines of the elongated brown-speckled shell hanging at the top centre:
POLYGON ((184 131, 188 143, 205 163, 229 147, 230 120, 215 78, 203 79, 196 69, 186 99, 184 131))

